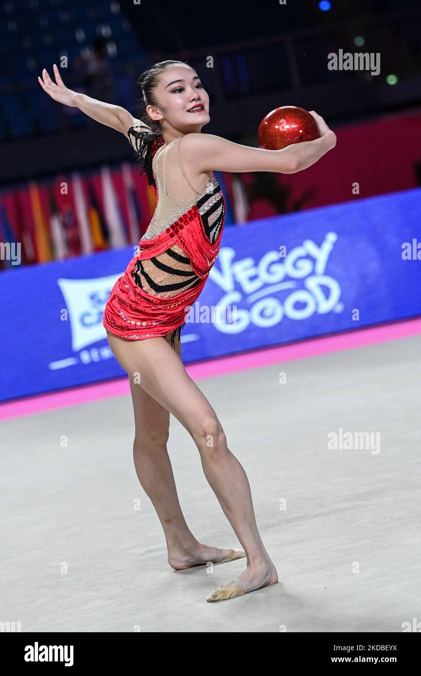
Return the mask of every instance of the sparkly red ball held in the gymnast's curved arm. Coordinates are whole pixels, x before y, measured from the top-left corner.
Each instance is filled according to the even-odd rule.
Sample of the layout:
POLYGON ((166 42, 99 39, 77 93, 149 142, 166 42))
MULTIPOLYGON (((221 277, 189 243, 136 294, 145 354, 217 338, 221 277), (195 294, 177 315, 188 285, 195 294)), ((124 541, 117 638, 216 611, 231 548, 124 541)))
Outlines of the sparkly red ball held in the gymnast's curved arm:
POLYGON ((257 130, 260 148, 280 150, 292 143, 314 141, 320 137, 314 117, 298 105, 282 105, 263 118, 257 130))

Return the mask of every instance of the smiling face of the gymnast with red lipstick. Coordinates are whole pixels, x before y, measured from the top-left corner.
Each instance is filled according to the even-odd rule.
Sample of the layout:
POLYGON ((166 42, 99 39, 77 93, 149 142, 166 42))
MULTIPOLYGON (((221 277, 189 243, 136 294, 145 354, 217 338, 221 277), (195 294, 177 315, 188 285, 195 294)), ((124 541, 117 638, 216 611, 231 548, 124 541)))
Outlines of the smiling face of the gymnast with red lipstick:
POLYGON ((209 96, 201 85, 197 72, 190 66, 167 66, 155 89, 159 106, 147 106, 153 120, 161 122, 162 132, 200 132, 209 122, 209 96), (195 106, 197 112, 190 112, 195 106))

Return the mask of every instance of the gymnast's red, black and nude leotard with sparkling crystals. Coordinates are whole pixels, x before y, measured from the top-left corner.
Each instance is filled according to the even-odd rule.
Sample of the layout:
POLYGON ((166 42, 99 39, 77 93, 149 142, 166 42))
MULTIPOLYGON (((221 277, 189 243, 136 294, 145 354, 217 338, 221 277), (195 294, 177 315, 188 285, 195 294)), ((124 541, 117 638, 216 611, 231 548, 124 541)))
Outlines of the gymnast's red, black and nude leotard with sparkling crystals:
MULTIPOLYGON (((147 126, 130 127, 128 137, 137 153, 150 134, 147 126)), ((191 185, 180 159, 182 145, 178 149, 182 138, 164 145, 158 137, 149 147, 152 171, 147 173, 157 207, 135 256, 112 288, 103 316, 105 329, 120 338, 144 340, 171 332, 174 345, 218 256, 224 195, 213 172, 201 192, 191 185)))

